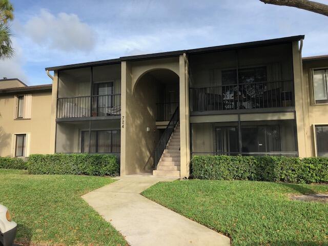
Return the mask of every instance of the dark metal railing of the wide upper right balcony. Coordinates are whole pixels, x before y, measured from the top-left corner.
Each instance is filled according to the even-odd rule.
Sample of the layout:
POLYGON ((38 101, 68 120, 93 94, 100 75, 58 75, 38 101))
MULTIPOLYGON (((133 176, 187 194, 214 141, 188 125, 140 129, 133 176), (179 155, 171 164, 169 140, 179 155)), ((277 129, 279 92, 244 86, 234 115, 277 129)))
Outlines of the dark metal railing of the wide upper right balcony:
POLYGON ((293 81, 190 88, 191 111, 295 106, 293 81))

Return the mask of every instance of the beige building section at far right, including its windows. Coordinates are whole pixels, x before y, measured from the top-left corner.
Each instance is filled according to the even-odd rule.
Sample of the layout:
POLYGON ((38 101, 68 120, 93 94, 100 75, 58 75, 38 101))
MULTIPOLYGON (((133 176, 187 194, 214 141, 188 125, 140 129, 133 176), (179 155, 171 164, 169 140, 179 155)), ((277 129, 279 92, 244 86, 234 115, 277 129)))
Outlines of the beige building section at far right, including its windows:
POLYGON ((328 156, 328 55, 303 58, 305 156, 328 156))

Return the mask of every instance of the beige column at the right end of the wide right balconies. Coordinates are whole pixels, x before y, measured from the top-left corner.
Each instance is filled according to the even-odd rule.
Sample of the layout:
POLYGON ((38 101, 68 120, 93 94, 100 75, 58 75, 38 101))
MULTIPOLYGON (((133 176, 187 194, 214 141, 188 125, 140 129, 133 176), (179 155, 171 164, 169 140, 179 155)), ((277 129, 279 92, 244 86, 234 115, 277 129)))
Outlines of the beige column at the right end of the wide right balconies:
POLYGON ((293 73, 294 73, 294 92, 295 92, 295 111, 296 111, 296 128, 297 144, 299 157, 311 155, 311 150, 306 149, 306 127, 304 125, 303 112, 303 88, 302 88, 302 64, 301 54, 299 52, 298 42, 292 44, 293 49, 293 73), (309 152, 309 153, 308 153, 309 152))

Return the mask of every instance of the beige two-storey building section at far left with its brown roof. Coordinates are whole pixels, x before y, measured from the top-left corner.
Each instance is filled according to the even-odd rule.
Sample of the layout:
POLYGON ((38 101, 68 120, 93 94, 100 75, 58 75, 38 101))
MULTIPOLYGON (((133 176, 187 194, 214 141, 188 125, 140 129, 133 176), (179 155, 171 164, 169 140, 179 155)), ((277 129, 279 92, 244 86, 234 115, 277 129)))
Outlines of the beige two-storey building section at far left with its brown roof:
MULTIPOLYGON (((0 84, 14 80, 19 81, 2 79, 0 84)), ((0 156, 27 157, 51 153, 52 86, 11 85, 15 87, 0 89, 0 156)))

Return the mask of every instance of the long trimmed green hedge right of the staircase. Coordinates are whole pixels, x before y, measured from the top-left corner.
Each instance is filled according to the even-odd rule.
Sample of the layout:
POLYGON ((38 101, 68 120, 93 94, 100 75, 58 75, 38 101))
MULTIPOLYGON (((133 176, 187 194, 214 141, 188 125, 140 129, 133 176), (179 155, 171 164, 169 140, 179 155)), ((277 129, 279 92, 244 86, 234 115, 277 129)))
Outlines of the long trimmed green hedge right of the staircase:
POLYGON ((194 156, 191 176, 199 179, 328 182, 327 157, 194 156))

